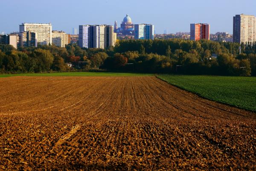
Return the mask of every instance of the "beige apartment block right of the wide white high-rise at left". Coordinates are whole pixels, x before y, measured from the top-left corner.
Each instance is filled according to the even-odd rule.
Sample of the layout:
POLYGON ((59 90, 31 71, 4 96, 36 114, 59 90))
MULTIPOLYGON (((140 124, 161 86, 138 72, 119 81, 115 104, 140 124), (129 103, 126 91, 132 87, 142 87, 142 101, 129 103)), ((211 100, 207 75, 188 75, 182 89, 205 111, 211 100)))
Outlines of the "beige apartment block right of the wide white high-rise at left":
POLYGON ((68 35, 64 31, 52 31, 52 44, 64 48, 68 44, 68 35))

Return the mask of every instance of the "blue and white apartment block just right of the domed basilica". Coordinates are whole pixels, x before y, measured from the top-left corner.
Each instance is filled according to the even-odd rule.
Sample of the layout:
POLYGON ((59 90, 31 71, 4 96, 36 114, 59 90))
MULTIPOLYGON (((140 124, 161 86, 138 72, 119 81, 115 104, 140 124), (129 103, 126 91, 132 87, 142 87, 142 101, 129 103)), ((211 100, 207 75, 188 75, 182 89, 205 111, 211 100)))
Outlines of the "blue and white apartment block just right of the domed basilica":
POLYGON ((154 40, 154 25, 152 24, 135 24, 134 38, 154 40))

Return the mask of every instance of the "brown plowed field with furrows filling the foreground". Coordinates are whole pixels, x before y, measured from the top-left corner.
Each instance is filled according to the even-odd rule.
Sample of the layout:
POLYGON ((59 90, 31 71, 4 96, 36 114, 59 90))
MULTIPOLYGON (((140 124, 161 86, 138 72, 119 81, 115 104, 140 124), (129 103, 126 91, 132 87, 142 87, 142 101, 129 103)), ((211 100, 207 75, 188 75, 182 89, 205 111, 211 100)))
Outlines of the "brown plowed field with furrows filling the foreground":
POLYGON ((0 170, 256 170, 256 114, 156 77, 0 79, 0 170))

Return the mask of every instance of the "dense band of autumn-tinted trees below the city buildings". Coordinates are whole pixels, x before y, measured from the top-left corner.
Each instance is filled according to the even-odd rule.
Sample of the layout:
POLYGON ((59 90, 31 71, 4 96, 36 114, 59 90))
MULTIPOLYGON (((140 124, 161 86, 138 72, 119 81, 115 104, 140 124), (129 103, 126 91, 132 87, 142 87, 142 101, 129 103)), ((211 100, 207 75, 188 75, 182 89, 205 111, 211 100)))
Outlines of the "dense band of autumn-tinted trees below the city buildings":
POLYGON ((73 70, 256 76, 256 42, 120 40, 108 49, 0 45, 0 73, 73 70))

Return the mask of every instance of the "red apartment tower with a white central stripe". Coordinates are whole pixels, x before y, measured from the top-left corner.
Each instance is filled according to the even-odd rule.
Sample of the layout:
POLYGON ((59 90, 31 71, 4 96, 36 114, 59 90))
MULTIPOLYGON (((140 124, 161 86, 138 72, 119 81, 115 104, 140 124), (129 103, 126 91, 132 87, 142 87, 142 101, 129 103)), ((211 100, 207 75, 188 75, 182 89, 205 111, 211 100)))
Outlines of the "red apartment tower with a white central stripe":
POLYGON ((190 40, 210 40, 210 25, 209 24, 190 24, 190 40))

